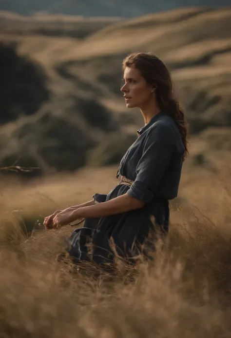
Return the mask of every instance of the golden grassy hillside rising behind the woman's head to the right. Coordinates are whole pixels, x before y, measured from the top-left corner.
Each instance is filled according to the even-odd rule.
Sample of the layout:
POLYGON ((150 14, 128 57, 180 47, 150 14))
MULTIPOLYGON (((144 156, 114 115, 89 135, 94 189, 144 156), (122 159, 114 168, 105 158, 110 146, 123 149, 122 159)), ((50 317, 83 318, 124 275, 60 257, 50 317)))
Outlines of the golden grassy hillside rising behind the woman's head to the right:
POLYGON ((231 124, 231 7, 184 8, 118 22, 73 46, 58 69, 105 87, 105 97, 110 89, 117 101, 121 60, 136 51, 154 52, 167 63, 191 132, 231 124))

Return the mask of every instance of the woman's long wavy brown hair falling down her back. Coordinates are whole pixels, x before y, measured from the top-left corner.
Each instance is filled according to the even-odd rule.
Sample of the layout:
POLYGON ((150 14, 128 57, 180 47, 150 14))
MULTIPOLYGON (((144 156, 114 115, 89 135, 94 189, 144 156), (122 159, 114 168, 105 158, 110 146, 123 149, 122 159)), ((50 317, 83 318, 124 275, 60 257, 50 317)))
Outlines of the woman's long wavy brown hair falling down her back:
POLYGON ((173 81, 166 65, 152 53, 133 53, 123 60, 123 70, 126 67, 135 67, 148 83, 156 86, 158 105, 177 124, 186 156, 188 154, 188 123, 185 118, 184 109, 181 107, 173 91, 173 81))

